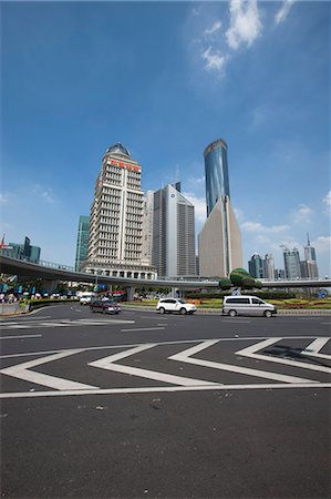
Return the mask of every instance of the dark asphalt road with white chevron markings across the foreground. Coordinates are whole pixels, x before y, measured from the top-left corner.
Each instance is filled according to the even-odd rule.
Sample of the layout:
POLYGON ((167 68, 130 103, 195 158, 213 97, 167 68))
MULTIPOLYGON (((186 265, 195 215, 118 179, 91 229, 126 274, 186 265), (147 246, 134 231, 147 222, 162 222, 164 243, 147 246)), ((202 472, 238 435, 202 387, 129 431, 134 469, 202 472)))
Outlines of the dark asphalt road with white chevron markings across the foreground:
POLYGON ((0 324, 1 497, 331 497, 331 317, 0 324))

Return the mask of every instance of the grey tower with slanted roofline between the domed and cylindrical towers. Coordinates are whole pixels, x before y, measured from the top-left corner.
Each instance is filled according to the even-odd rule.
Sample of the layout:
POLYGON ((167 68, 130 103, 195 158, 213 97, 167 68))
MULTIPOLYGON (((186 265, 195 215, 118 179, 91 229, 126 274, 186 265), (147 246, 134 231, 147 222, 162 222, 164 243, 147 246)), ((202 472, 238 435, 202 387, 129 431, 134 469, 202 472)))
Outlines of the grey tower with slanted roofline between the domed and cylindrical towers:
POLYGON ((167 277, 196 274, 194 205, 180 183, 154 193, 153 265, 167 277))

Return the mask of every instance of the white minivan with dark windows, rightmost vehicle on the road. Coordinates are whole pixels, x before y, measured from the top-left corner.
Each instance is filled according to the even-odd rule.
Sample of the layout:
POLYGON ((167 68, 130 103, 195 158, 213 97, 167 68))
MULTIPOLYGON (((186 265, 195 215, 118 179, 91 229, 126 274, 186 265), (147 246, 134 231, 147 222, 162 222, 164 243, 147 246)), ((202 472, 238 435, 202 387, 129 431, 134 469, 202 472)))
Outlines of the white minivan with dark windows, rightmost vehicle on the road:
POLYGON ((277 314, 277 308, 257 296, 226 296, 223 302, 221 312, 230 317, 236 317, 236 315, 262 315, 265 317, 271 317, 277 314))

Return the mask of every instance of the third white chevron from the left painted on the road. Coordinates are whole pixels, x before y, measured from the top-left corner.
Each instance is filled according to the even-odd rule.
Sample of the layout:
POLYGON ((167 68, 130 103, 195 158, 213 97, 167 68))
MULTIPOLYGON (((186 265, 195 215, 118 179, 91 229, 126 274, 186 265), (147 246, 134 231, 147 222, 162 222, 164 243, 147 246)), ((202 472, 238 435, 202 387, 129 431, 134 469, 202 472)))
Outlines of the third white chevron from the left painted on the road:
POLYGON ((197 352, 208 348, 209 346, 214 345, 215 343, 218 343, 218 340, 211 339, 211 340, 204 342, 201 345, 197 345, 196 347, 188 348, 187 350, 180 352, 179 354, 172 355, 172 357, 169 357, 169 359, 178 360, 180 363, 193 364, 193 365, 197 365, 197 366, 211 367, 213 369, 220 369, 220 370, 227 370, 230 373, 237 373, 237 374, 242 374, 242 375, 248 375, 248 376, 256 376, 258 378, 273 379, 276 381, 282 381, 282 383, 318 383, 318 381, 313 381, 313 379, 298 378, 296 376, 286 376, 286 375, 281 375, 278 373, 269 373, 267 370, 251 369, 249 367, 239 367, 239 366, 235 366, 232 364, 223 364, 223 363, 215 363, 211 360, 201 360, 198 358, 190 358, 190 355, 194 355, 197 352))

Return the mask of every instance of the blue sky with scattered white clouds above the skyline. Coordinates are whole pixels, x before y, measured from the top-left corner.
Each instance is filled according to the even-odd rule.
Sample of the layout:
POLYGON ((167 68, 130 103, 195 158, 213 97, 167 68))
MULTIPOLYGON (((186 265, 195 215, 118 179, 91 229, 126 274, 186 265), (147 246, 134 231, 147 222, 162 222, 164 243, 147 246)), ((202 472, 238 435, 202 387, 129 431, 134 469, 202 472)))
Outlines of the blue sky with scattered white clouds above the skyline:
MULTIPOLYGON (((245 267, 310 234, 330 276, 330 2, 2 2, 1 233, 72 265, 102 155, 179 176, 203 226, 203 152, 228 143, 245 267)), ((2 234, 1 234, 2 236, 2 234)))

